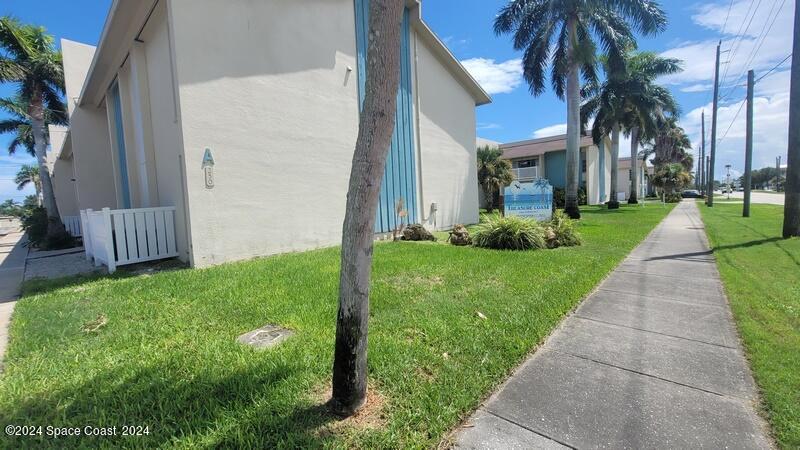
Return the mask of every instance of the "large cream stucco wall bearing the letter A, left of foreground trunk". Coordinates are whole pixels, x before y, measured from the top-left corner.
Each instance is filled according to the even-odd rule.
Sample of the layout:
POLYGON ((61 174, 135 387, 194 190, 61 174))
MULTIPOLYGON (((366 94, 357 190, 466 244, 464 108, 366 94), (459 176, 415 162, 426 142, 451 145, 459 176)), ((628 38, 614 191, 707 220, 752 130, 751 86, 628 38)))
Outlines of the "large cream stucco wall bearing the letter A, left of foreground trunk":
POLYGON ((353 1, 170 4, 194 264, 337 244, 358 129, 353 1))

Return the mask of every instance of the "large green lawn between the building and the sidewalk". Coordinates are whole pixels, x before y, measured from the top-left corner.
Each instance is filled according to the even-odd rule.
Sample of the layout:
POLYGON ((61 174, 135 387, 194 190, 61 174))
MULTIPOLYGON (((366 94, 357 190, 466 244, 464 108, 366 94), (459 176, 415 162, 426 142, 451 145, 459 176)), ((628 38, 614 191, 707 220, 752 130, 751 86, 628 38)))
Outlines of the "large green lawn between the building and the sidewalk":
POLYGON ((584 207, 585 245, 574 248, 378 244, 369 375, 383 408, 358 427, 320 406, 332 364, 336 248, 28 284, 0 376, 0 423, 141 425, 150 434, 3 435, 0 448, 436 446, 670 209, 584 207), (105 326, 82 330, 100 315, 105 326), (270 323, 296 335, 260 352, 236 343, 270 323))

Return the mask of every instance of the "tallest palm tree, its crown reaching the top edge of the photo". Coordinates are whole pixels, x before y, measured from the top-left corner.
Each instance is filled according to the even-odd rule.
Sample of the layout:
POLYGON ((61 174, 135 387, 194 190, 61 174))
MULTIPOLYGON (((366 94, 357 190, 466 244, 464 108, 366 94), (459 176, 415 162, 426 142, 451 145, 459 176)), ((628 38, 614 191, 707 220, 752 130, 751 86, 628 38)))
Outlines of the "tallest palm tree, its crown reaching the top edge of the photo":
POLYGON ((580 217, 578 165, 580 159, 580 78, 596 78, 597 44, 609 64, 619 66, 634 31, 644 35, 664 29, 667 18, 654 0, 510 0, 494 23, 496 34, 513 33, 514 48, 524 51, 523 75, 530 91, 545 89, 551 66, 556 95, 567 100, 566 212, 580 217))

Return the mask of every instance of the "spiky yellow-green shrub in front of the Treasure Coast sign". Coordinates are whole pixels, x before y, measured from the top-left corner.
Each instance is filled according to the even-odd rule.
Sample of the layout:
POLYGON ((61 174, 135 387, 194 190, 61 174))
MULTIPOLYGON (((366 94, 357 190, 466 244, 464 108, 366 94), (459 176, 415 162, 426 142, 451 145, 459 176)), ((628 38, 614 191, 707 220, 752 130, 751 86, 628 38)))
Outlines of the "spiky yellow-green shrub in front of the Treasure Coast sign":
POLYGON ((472 243, 496 250, 547 248, 547 230, 535 220, 516 216, 488 218, 476 227, 472 243))

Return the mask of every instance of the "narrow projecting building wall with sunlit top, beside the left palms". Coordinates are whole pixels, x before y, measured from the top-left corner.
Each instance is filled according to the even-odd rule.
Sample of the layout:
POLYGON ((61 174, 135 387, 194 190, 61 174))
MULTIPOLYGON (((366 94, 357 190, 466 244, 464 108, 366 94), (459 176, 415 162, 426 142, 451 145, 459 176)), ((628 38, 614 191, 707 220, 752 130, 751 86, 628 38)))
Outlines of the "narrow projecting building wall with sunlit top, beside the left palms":
POLYGON ((116 208, 117 194, 105 107, 77 106, 95 49, 66 39, 62 39, 61 49, 78 208, 116 208))

